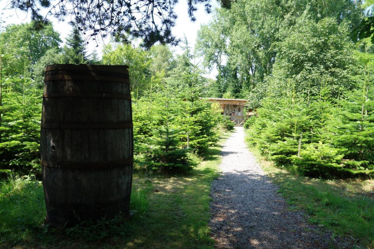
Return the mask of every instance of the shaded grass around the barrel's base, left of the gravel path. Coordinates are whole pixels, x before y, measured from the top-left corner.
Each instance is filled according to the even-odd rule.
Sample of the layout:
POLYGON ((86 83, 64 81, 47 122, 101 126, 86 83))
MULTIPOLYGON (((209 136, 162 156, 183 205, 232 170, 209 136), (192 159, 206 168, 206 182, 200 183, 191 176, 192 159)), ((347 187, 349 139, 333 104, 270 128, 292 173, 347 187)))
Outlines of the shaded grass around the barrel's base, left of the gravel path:
MULTIPOLYGON (((229 134, 224 134, 222 144, 229 134)), ((57 231, 43 227, 41 182, 0 181, 0 248, 212 248, 210 184, 218 175, 221 146, 183 175, 134 172, 128 222, 100 221, 57 231)))

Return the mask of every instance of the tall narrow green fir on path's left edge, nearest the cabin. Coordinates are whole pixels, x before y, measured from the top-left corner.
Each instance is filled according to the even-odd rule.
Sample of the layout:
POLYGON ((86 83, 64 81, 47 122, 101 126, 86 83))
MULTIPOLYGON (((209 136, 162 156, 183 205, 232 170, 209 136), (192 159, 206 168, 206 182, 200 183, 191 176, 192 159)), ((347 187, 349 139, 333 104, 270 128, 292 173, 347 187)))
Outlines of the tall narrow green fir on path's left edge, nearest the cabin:
POLYGON ((168 82, 176 85, 175 94, 179 98, 178 113, 175 112, 175 115, 183 131, 181 141, 184 147, 193 148, 199 153, 206 151, 218 139, 215 132, 218 113, 212 111, 211 103, 199 99, 205 83, 201 74, 196 64, 196 51, 190 54, 186 43, 184 53, 178 57, 177 67, 171 71, 168 82))

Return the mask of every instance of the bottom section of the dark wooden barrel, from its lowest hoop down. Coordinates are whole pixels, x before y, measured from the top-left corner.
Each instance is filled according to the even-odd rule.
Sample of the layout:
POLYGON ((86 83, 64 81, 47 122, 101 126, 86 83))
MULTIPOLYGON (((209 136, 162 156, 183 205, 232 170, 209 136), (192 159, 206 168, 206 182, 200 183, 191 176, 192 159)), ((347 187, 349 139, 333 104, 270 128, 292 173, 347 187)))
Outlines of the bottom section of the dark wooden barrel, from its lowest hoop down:
POLYGON ((66 227, 72 227, 79 224, 80 221, 95 222, 102 217, 113 219, 119 213, 125 219, 129 216, 131 191, 124 190, 131 189, 132 164, 110 169, 100 169, 99 171, 96 169, 56 169, 42 166, 43 179, 46 177, 45 175, 50 175, 51 172, 53 172, 56 180, 43 181, 46 197, 47 223, 51 223, 55 227, 62 227, 68 221, 66 227), (105 184, 108 183, 108 179, 112 179, 116 175, 125 176, 122 182, 126 185, 105 184), (85 181, 88 177, 90 181, 85 181), (66 179, 72 178, 82 179, 82 181, 86 182, 82 185, 87 187, 76 188, 73 184, 66 184, 66 179), (104 191, 108 187, 111 188, 111 191, 104 191), (72 198, 68 193, 73 192, 74 196, 72 198), (58 196, 58 198, 53 196, 58 196), (74 199, 79 199, 79 201, 74 199), (76 215, 79 215, 79 219, 76 215))

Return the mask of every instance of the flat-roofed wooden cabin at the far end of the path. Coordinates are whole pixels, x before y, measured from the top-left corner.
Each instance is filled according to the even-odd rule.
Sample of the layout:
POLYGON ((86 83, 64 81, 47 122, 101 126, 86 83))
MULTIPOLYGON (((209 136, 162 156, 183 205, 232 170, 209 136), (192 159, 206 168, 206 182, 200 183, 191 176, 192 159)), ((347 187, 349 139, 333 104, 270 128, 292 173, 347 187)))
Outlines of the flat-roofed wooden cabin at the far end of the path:
POLYGON ((219 102, 223 110, 223 115, 235 123, 236 126, 243 126, 248 117, 254 115, 254 110, 248 109, 247 99, 221 99, 221 98, 202 98, 211 102, 219 102))

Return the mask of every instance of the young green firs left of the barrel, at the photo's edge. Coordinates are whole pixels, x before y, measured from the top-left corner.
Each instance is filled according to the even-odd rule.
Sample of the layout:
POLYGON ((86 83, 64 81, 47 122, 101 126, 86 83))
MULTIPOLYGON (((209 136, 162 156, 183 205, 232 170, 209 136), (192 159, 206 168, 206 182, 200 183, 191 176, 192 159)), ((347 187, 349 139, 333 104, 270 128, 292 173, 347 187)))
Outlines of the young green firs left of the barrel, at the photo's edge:
POLYGON ((2 94, 0 169, 37 175, 42 90, 31 79, 7 79, 2 94))

